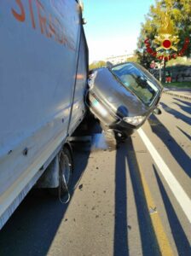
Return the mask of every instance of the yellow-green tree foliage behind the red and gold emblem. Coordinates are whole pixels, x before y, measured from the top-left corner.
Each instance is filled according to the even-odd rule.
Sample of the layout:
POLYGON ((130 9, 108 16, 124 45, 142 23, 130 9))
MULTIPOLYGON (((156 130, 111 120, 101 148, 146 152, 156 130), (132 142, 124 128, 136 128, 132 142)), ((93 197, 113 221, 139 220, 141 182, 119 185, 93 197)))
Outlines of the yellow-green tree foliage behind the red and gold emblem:
MULTIPOLYGON (((161 25, 164 15, 168 15, 171 20, 171 29, 173 35, 177 36, 180 41, 177 44, 177 52, 185 45, 185 39, 191 36, 191 0, 155 0, 155 4, 150 7, 148 15, 145 16, 145 22, 142 23, 142 29, 138 38, 136 54, 139 61, 145 67, 149 67, 151 61, 156 60, 156 55, 148 53, 145 40, 149 38, 151 49, 156 49, 155 36, 161 33, 161 25)), ((171 54, 170 52, 167 52, 171 54)), ((191 54, 190 43, 183 52, 184 55, 191 54)))

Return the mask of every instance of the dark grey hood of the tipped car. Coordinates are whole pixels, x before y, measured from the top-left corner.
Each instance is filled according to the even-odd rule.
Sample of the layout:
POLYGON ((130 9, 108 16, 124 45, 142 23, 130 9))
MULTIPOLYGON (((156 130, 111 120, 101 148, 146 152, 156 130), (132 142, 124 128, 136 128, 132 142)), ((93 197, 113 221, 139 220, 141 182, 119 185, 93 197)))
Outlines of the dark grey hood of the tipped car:
POLYGON ((90 92, 121 117, 148 113, 149 108, 130 90, 124 88, 107 68, 96 72, 90 92))

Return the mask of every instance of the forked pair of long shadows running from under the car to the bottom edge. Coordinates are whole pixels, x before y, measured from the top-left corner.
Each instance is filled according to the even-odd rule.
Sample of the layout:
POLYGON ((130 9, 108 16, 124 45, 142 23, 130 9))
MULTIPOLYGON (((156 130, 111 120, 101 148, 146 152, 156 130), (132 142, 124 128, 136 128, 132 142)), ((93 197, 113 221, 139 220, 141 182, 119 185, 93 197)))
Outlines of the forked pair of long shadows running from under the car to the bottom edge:
POLYGON ((159 245, 153 231, 153 224, 148 212, 144 194, 140 169, 136 160, 136 153, 131 138, 118 148, 116 154, 115 173, 115 224, 114 224, 114 256, 129 255, 128 219, 127 219, 127 182, 126 166, 129 166, 130 180, 136 201, 136 212, 142 243, 143 255, 160 255, 159 245))

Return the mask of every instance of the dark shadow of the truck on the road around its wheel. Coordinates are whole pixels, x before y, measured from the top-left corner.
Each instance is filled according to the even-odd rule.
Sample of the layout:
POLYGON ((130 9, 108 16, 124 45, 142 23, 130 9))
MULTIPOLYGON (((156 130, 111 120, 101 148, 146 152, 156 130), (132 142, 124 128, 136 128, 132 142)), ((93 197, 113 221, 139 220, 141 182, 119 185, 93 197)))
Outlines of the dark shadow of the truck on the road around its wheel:
MULTIPOLYGON (((72 188, 83 175, 88 158, 89 152, 76 153, 72 188)), ((0 255, 46 255, 68 206, 69 204, 61 204, 58 198, 49 195, 45 190, 30 192, 1 230, 0 255)))

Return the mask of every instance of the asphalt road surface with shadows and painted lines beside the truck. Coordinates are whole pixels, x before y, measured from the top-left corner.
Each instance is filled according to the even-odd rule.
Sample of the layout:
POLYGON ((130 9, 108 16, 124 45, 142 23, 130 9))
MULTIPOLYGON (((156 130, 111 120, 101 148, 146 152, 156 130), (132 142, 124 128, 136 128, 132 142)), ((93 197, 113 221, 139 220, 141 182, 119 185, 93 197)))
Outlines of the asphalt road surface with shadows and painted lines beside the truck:
POLYGON ((76 145, 69 204, 32 191, 0 231, 0 255, 191 255, 191 102, 160 106, 117 150, 101 135, 76 145))

